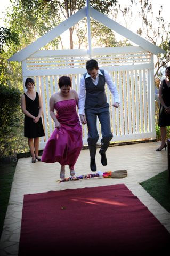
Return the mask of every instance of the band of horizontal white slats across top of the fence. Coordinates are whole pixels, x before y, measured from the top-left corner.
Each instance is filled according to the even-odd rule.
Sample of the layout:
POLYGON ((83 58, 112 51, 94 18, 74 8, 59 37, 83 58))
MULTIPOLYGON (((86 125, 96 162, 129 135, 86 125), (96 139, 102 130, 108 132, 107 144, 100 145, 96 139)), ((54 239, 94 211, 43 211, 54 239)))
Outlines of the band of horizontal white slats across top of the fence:
MULTIPOLYGON (((41 53, 41 51, 40 51, 41 53)), ((95 52, 94 52, 95 53, 95 52)), ((81 54, 81 52, 80 52, 81 54)), ((86 54, 86 53, 84 53, 86 54)), ((26 70, 42 70, 42 69, 72 69, 84 68, 88 56, 86 55, 58 55, 58 56, 43 56, 41 54, 35 57, 26 59, 26 70)), ((133 53, 112 53, 107 55, 96 54, 94 59, 98 59, 99 66, 122 66, 136 64, 150 64, 151 54, 149 52, 140 51, 133 53)))

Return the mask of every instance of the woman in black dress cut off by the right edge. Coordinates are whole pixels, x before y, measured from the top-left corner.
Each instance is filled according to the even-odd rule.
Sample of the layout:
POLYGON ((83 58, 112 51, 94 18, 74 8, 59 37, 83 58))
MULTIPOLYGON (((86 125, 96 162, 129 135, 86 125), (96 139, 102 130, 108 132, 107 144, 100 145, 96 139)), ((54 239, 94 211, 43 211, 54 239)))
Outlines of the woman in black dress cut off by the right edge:
POLYGON ((166 126, 170 125, 170 66, 166 68, 165 75, 167 79, 163 80, 159 86, 159 122, 161 134, 161 145, 156 151, 161 151, 167 147, 166 144, 166 126))

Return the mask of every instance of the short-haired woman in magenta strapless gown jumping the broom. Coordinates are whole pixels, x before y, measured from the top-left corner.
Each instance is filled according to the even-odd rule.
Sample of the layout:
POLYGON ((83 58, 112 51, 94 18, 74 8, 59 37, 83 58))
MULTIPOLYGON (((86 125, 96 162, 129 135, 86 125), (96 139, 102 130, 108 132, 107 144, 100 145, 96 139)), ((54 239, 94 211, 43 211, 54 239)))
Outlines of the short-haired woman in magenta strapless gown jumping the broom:
POLYGON ((82 126, 79 122, 76 106, 78 94, 71 89, 68 76, 59 79, 60 91, 50 98, 50 115, 55 130, 48 139, 42 155, 42 162, 61 164, 60 178, 65 178, 65 165, 69 165, 70 175, 74 176, 74 165, 82 149, 82 126), (56 109, 56 115, 54 113, 56 109))

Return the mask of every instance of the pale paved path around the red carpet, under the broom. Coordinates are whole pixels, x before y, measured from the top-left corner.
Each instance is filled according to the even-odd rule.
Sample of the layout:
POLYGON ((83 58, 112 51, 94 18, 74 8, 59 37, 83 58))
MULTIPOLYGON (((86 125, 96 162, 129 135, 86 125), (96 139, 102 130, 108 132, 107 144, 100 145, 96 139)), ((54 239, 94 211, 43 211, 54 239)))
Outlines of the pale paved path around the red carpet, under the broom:
MULTIPOLYGON (((148 207, 155 217, 170 233, 170 213, 153 199, 139 184, 167 169, 167 151, 156 152, 160 142, 140 143, 134 145, 109 147, 107 150, 108 165, 102 166, 99 149, 96 154, 98 170, 115 171, 126 169, 124 179, 90 179, 58 183, 59 163, 31 163, 31 158, 18 160, 11 188, 3 233, 0 241, 0 255, 18 255, 23 195, 41 193, 50 190, 76 189, 84 187, 106 186, 124 183, 140 201, 148 207)), ((66 177, 69 169, 66 167, 66 177)), ((75 166, 76 175, 89 174, 90 156, 88 150, 82 150, 75 166)))

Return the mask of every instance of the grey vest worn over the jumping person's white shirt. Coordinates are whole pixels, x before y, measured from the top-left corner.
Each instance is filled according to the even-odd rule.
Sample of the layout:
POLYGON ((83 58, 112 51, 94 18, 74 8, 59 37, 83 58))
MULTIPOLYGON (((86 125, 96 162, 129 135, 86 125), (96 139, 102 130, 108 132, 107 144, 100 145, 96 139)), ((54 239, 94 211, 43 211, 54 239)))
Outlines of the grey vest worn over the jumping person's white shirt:
POLYGON ((91 77, 85 79, 87 73, 83 75, 86 86, 85 109, 91 107, 105 107, 105 105, 107 105, 104 70, 100 69, 100 71, 103 76, 99 74, 99 82, 97 85, 93 84, 91 77))

